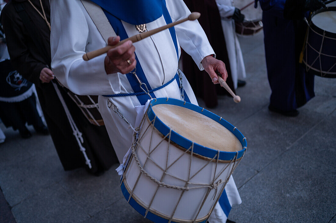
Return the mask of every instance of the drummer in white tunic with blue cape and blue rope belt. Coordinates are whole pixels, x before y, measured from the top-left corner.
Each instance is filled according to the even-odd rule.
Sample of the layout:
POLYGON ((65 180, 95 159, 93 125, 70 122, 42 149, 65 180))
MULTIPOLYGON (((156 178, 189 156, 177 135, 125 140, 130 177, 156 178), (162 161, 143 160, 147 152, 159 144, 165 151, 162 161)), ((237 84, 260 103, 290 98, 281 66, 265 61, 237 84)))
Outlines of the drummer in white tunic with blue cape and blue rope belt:
MULTIPOLYGON (((213 57, 197 21, 180 23, 136 43, 125 41, 108 47, 107 53, 102 49, 100 56, 89 57, 88 52, 107 44, 114 46, 188 17, 190 11, 182 0, 51 0, 50 4, 52 70, 75 94, 99 95, 99 109, 120 163, 137 131, 137 112, 142 112, 148 100, 175 98, 197 105, 193 90, 178 70, 180 47, 200 70, 209 73, 213 83, 218 83, 216 71, 224 80, 227 77, 225 64, 213 57)), ((241 203, 233 179, 225 191, 211 223, 225 222, 231 206, 241 203)))

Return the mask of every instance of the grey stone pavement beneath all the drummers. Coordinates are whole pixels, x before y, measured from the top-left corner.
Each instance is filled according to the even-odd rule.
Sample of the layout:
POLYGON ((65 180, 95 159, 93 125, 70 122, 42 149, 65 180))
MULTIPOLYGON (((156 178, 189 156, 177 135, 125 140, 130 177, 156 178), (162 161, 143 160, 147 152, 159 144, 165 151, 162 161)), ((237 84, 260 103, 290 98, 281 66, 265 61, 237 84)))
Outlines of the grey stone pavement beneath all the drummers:
MULTIPOLYGON (((222 96, 211 109, 248 142, 234 172, 243 203, 229 219, 336 222, 336 79, 316 77, 316 97, 298 117, 271 113, 263 35, 240 41, 247 70, 247 85, 237 90, 242 102, 222 96)), ((0 144, 0 187, 17 222, 150 222, 123 198, 118 165, 99 177, 84 169, 65 172, 50 136, 23 140, 0 127, 7 136, 0 144)), ((0 215, 8 215, 2 200, 0 191, 0 215)), ((12 222, 8 216, 0 221, 12 222)))

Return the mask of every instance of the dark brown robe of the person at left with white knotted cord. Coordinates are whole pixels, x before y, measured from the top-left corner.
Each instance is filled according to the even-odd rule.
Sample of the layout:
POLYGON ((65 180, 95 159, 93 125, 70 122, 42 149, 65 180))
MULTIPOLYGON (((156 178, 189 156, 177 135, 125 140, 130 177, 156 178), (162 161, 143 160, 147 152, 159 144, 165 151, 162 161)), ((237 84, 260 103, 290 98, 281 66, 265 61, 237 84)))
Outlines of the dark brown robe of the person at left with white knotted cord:
MULTIPOLYGON (((31 0, 31 2, 42 13, 39 0, 31 0)), ((46 17, 50 21, 49 1, 42 0, 42 4, 46 17)), ((1 12, 1 20, 12 65, 27 80, 35 84, 48 129, 64 169, 87 167, 52 83, 42 83, 39 79, 41 70, 50 67, 51 63, 50 31, 47 23, 26 0, 12 0, 7 3, 1 12), (29 35, 27 27, 16 12, 14 4, 18 2, 23 4, 31 18, 30 27, 36 29, 35 37, 29 35), (38 38, 38 47, 32 38, 38 38), (41 52, 39 48, 43 51, 41 52)), ((62 87, 59 89, 77 127, 83 133, 83 147, 92 164, 92 169, 89 171, 95 173, 109 169, 112 164, 118 162, 118 159, 105 126, 90 124, 64 89, 62 87)))

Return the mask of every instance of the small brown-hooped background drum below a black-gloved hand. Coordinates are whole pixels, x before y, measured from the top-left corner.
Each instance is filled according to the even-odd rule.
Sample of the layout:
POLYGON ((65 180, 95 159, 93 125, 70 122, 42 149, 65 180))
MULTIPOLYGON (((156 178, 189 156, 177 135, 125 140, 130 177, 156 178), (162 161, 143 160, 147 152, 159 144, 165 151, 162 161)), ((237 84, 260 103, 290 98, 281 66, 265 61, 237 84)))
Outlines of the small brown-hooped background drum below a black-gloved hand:
MULTIPOLYGON (((236 0, 234 6, 242 9, 251 3, 251 0, 236 0)), ((262 31, 262 10, 258 2, 258 7, 254 8, 254 4, 243 9, 242 14, 245 15, 244 22, 236 22, 236 33, 243 36, 251 36, 262 31)))

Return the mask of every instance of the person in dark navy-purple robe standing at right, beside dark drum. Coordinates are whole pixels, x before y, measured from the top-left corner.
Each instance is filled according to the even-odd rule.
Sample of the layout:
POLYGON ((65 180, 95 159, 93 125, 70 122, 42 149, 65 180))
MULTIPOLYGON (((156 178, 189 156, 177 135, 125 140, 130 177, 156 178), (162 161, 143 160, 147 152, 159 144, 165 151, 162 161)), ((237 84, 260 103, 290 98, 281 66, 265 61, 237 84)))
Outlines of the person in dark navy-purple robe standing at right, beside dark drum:
MULTIPOLYGON (((257 3, 258 0, 256 0, 257 3)), ((299 63, 307 26, 305 13, 324 6, 321 0, 259 0, 267 74, 270 88, 268 109, 285 116, 297 116, 314 94, 314 76, 299 63)), ((257 4, 255 4, 257 5, 257 4)))

